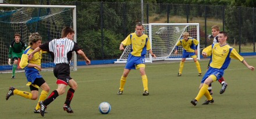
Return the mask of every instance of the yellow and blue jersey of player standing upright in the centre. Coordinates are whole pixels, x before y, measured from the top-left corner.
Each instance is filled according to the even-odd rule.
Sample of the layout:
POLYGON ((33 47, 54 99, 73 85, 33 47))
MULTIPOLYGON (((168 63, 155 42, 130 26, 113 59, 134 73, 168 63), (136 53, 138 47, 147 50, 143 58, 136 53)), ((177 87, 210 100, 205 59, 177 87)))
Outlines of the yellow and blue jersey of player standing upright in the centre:
POLYGON ((123 40, 122 44, 124 46, 129 46, 131 44, 130 54, 136 57, 144 57, 147 50, 151 49, 150 39, 145 34, 138 37, 136 33, 132 33, 123 40))

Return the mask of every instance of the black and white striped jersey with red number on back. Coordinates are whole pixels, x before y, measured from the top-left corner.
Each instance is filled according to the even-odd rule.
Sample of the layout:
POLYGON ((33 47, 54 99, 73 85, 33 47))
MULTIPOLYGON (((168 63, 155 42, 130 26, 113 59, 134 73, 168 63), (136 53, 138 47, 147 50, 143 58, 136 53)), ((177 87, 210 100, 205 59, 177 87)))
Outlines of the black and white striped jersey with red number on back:
POLYGON ((51 53, 54 64, 69 64, 72 52, 80 50, 76 42, 67 38, 53 39, 39 47, 51 53))

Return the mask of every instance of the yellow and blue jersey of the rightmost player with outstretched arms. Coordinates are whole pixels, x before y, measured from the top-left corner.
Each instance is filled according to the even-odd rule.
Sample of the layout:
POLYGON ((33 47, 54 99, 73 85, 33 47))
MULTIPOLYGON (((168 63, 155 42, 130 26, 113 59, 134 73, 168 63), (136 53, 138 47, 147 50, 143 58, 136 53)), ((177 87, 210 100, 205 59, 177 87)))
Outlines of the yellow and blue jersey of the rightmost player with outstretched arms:
POLYGON ((230 64, 231 58, 239 61, 244 60, 244 58, 228 44, 225 46, 220 46, 219 43, 212 44, 202 50, 202 52, 207 53, 208 56, 211 55, 209 66, 216 69, 226 69, 230 64))

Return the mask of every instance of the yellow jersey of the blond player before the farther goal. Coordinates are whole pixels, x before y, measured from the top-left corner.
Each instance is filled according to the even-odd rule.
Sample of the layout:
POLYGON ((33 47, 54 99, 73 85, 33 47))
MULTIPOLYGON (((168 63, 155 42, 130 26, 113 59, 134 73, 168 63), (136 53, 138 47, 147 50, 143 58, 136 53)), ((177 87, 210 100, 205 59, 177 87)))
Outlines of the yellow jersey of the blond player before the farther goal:
POLYGON ((180 38, 180 40, 176 44, 176 49, 178 50, 178 46, 182 46, 184 50, 186 50, 189 53, 193 53, 195 51, 196 46, 198 45, 198 40, 194 39, 192 37, 189 37, 188 40, 184 40, 183 38, 180 38))

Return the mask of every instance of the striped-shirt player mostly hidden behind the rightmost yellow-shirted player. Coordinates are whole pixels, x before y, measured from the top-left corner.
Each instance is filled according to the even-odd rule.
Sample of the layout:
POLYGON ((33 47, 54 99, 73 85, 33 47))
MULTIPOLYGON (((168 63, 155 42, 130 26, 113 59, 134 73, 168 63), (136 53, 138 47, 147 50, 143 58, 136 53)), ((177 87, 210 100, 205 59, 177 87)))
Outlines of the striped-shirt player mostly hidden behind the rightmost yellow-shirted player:
MULTIPOLYGON (((213 44, 219 43, 219 40, 218 40, 219 29, 220 28, 218 25, 212 26, 212 37, 214 37, 214 40, 212 42, 213 44)), ((210 62, 211 62, 211 60, 209 61, 209 64, 210 64, 210 62)), ((209 68, 209 64, 208 64, 207 69, 209 68)), ((219 79, 218 81, 222 85, 221 91, 219 91, 219 93, 223 94, 227 88, 227 83, 223 77, 221 77, 221 79, 219 79)), ((208 91, 212 95, 212 84, 209 84, 208 91)), ((208 105, 208 104, 206 103, 205 105, 208 105)))

